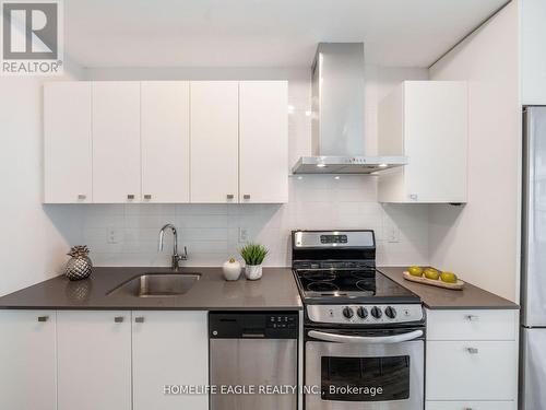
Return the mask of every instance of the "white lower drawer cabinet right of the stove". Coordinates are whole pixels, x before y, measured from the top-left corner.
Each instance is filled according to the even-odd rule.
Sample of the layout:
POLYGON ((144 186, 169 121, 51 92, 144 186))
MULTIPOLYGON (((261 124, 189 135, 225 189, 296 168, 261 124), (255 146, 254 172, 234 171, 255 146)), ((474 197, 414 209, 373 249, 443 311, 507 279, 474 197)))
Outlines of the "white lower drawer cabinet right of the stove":
POLYGON ((517 311, 427 311, 427 410, 515 410, 517 311))

